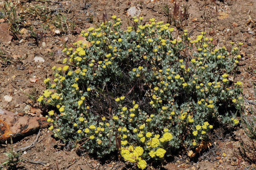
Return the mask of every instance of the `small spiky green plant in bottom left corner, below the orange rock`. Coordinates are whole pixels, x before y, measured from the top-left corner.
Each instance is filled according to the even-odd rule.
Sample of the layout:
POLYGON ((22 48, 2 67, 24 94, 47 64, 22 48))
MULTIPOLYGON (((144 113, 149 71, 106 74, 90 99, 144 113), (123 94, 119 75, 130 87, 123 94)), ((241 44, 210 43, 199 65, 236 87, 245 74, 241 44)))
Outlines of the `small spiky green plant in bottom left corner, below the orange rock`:
MULTIPOLYGON (((6 144, 7 144, 7 142, 6 142, 6 144)), ((16 168, 17 163, 20 162, 20 161, 22 161, 21 159, 19 159, 20 156, 22 155, 22 153, 20 153, 20 152, 15 152, 15 151, 14 151, 12 137, 11 137, 11 145, 10 145, 9 151, 8 151, 8 152, 5 152, 5 153, 3 153, 3 154, 5 154, 5 155, 8 157, 8 159, 6 159, 6 160, 2 163, 2 165, 3 165, 5 168, 8 168, 8 169, 10 169, 10 170, 16 168)))

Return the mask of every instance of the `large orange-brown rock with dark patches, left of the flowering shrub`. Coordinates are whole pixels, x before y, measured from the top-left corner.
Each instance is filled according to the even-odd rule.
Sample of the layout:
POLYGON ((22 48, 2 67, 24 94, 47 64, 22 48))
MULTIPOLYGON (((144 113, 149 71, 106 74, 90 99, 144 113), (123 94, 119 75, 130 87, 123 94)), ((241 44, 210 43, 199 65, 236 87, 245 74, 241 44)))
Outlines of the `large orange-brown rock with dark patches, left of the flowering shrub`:
POLYGON ((13 137, 22 137, 48 127, 46 117, 19 116, 0 108, 0 142, 13 137))

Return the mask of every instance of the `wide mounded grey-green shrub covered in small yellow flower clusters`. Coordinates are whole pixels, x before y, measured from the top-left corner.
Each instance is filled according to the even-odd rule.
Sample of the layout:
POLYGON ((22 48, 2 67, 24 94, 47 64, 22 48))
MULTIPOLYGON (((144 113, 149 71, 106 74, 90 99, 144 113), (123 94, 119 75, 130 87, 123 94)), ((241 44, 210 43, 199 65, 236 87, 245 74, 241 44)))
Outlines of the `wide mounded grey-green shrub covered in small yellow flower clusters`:
POLYGON ((209 147, 219 122, 239 123, 242 83, 232 82, 240 47, 215 48, 202 32, 174 38, 170 24, 143 17, 122 30, 112 16, 82 32, 87 41, 65 48, 63 68, 38 98, 50 105, 48 122, 56 137, 99 157, 119 151, 125 161, 145 169, 176 149, 193 155, 209 147), (188 51, 191 55, 188 55, 188 51))

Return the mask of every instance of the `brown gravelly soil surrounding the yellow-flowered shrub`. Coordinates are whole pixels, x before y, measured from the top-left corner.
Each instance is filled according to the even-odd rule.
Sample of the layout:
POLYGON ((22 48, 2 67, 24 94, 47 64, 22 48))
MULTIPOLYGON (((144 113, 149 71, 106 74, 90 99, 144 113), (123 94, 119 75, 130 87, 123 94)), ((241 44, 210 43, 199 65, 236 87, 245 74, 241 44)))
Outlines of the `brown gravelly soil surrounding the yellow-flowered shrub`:
MULTIPOLYGON (((182 28, 187 29, 191 37, 205 30, 214 38, 218 47, 226 46, 231 50, 230 41, 244 43, 241 51, 240 74, 234 80, 244 83, 246 101, 254 102, 254 82, 256 80, 256 2, 254 0, 177 0, 189 6, 189 17, 182 28)), ((0 2, 0 10, 4 1, 0 2)), ((99 160, 80 150, 72 150, 63 145, 45 128, 45 110, 36 97, 45 89, 43 80, 52 78, 51 68, 61 66, 64 58, 61 50, 64 46, 79 39, 83 29, 102 21, 102 14, 116 15, 123 21, 123 27, 131 22, 130 15, 143 16, 145 22, 150 18, 168 22, 163 7, 169 6, 172 13, 173 0, 18 0, 17 15, 23 15, 20 33, 10 31, 8 17, 0 19, 0 162, 6 159, 4 152, 9 146, 4 141, 10 133, 17 134, 14 148, 19 149, 35 143, 32 148, 23 151, 25 161, 18 169, 26 170, 90 170, 90 169, 134 169, 116 157, 99 160), (64 20, 67 17, 67 20, 64 20), (58 20, 62 19, 61 21, 58 20), (56 23, 60 25, 56 25, 56 23), (75 24, 75 26, 74 26, 75 24), (35 34, 33 34, 35 33, 35 34), (6 113, 6 114, 5 114, 6 113), (9 119, 6 119, 6 116, 9 119), (10 118, 11 117, 11 118, 10 118), (19 120, 22 120, 22 123, 19 120), (39 120, 39 121, 37 121, 39 120), (42 121, 42 123, 38 123, 42 121), (37 122, 37 123, 30 123, 37 122), (7 125, 7 126, 4 126, 7 125), (33 125, 33 126, 32 126, 33 125), (41 131, 38 133, 39 128, 41 131), (28 136, 28 133, 32 135, 28 136), (24 135, 23 135, 24 134, 24 135), (3 137, 5 136, 5 137, 3 137), (38 137, 38 138, 37 138, 38 137), (37 140, 36 140, 37 139, 37 140), (33 161, 39 161, 34 162, 33 161)), ((1 15, 1 13, 0 13, 1 15)), ((173 23, 172 23, 173 24, 173 23)), ((171 25, 172 25, 171 24, 171 25)), ((175 27, 175 26, 173 26, 175 27)), ((81 39, 81 38, 80 38, 81 39)), ((251 107, 246 103, 246 108, 251 107)), ((163 167, 152 165, 149 169, 252 169, 255 164, 239 152, 243 142, 247 156, 255 143, 245 135, 243 129, 219 127, 212 132, 213 146, 190 159, 180 153, 166 162, 163 167)), ((243 150, 242 150, 243 151, 243 150)), ((255 153, 254 153, 255 154, 255 153)), ((253 157, 253 153, 251 153, 253 157)), ((254 155, 255 157, 255 155, 254 155)), ((255 161, 255 159, 254 159, 255 161)), ((255 162, 254 162, 255 163, 255 162)))

